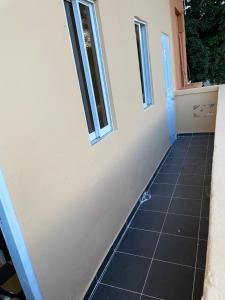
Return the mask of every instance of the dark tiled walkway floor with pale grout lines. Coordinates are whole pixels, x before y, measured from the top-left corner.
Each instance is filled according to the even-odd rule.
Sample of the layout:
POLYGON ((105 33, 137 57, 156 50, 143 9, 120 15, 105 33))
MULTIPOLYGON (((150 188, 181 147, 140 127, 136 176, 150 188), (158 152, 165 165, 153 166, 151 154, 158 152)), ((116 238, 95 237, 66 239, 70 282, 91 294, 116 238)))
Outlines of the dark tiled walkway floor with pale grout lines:
POLYGON ((99 279, 93 300, 200 300, 213 136, 180 138, 99 279))

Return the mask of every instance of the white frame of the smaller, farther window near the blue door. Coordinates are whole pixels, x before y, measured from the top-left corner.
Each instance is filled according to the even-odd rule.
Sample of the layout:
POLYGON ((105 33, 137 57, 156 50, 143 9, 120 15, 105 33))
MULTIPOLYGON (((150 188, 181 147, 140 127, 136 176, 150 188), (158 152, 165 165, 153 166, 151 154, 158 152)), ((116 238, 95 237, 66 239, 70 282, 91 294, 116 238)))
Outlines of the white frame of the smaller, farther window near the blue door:
MULTIPOLYGON (((141 66, 142 79, 144 85, 144 108, 153 104, 153 87, 151 76, 151 64, 148 43, 148 25, 147 22, 134 18, 134 24, 138 26, 140 49, 141 49, 141 66)), ((140 67, 140 66, 139 66, 140 67)))

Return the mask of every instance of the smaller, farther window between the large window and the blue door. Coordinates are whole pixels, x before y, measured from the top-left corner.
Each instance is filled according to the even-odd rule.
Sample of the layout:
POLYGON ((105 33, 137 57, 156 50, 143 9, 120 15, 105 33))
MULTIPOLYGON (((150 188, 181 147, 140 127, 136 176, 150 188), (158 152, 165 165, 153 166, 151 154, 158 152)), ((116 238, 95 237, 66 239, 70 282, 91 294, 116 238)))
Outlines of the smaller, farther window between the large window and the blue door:
POLYGON ((146 108, 153 102, 147 24, 135 18, 134 25, 137 40, 143 104, 146 108))

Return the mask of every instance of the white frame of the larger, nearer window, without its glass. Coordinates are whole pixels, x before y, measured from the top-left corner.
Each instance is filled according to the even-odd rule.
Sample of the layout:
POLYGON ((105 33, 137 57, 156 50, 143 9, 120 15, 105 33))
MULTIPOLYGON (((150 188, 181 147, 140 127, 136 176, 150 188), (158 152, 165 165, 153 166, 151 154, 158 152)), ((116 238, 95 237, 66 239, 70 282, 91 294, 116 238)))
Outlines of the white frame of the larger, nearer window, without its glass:
POLYGON ((82 63, 84 67, 85 79, 86 79, 87 89, 88 89, 88 94, 90 99, 91 112, 93 116, 95 131, 90 133, 89 137, 91 143, 94 144, 99 139, 103 138, 105 135, 107 135, 113 130, 112 115, 110 109, 110 98, 109 98, 109 91, 108 91, 107 81, 106 81, 106 72, 105 72, 104 62, 103 62, 103 53, 101 49, 101 40, 100 40, 100 34, 98 28, 97 14, 95 9, 95 3, 92 0, 71 0, 69 2, 72 2, 79 46, 80 46, 81 56, 82 56, 82 63), (106 118, 108 122, 108 124, 104 128, 100 128, 98 110, 97 110, 94 88, 93 88, 92 78, 91 78, 91 71, 90 71, 86 46, 85 46, 79 3, 87 6, 90 12, 93 39, 94 39, 96 55, 97 55, 98 70, 100 75, 106 118))

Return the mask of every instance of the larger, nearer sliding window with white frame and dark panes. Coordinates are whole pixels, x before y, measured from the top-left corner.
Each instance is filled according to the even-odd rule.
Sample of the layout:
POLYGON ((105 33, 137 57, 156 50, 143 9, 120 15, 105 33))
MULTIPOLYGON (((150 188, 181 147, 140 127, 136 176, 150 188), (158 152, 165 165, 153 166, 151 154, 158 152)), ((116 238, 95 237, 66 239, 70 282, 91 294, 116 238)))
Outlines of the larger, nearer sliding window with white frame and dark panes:
POLYGON ((91 142, 112 131, 109 94, 94 2, 64 0, 91 142))

